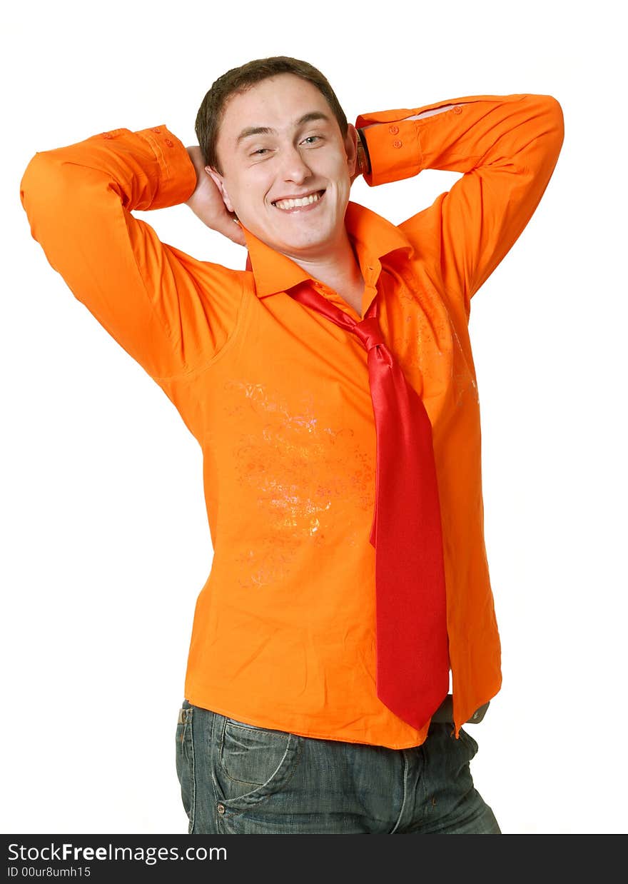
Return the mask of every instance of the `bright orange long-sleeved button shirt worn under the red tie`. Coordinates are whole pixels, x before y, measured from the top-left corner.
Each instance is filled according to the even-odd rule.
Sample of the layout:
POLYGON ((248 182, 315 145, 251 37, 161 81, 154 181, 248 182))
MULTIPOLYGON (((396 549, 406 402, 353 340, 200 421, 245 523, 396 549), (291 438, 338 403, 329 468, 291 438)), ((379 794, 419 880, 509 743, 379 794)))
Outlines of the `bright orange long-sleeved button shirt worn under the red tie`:
POLYGON ((49 263, 202 448, 214 559, 196 604, 185 697, 262 728, 401 749, 422 743, 427 727, 398 719, 375 693, 367 352, 289 289, 315 286, 354 319, 379 293, 384 338, 425 402, 458 732, 501 685, 470 301, 540 201, 563 115, 548 95, 474 95, 356 125, 365 127, 369 185, 422 169, 465 173, 398 226, 349 203, 366 281, 361 315, 248 231, 253 270, 231 270, 163 243, 133 217, 193 193, 193 164, 166 126, 39 152, 20 196, 49 263))

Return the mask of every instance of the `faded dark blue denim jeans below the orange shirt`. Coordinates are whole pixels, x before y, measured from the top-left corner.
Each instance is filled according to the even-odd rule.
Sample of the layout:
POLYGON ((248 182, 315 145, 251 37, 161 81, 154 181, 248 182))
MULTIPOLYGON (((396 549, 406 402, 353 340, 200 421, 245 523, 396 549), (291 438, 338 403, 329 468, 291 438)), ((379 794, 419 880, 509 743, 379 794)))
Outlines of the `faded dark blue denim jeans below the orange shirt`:
POLYGON ((433 724, 412 749, 267 730, 184 700, 177 773, 189 834, 501 834, 473 788, 478 744, 433 724))

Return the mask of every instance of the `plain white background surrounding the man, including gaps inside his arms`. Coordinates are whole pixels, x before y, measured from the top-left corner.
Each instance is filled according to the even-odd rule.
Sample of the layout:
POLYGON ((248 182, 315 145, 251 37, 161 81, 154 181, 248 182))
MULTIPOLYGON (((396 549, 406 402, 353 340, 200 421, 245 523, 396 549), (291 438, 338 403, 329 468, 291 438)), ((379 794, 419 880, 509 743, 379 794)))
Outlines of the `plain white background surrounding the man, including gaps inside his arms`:
MULTIPOLYGON (((424 6, 4 11, 4 833, 185 834, 174 734, 212 558, 200 447, 52 271, 19 180, 35 151, 121 126, 165 124, 193 144, 216 77, 271 55, 319 67, 351 121, 465 95, 563 106, 554 177, 472 301, 504 679, 469 726, 472 771, 505 834, 628 830, 621 4, 424 6)), ((399 223, 457 179, 360 179, 352 199, 399 223)), ((138 217, 196 257, 244 267, 244 250, 185 206, 138 217)))

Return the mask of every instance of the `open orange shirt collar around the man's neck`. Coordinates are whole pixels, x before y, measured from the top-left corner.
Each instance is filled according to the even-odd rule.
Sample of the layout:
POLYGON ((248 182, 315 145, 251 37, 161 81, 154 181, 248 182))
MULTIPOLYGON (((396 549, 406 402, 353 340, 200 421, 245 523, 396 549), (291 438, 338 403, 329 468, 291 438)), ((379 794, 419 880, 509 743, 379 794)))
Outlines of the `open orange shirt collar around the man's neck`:
MULTIPOLYGON (((379 274, 380 259, 384 255, 389 255, 397 248, 412 249, 409 240, 398 227, 357 202, 348 203, 344 224, 358 255, 360 269, 365 279, 374 278, 374 273, 376 278, 379 274)), ((286 292, 292 286, 312 278, 287 255, 276 252, 274 248, 258 240, 244 225, 242 230, 259 298, 277 292, 286 292)))

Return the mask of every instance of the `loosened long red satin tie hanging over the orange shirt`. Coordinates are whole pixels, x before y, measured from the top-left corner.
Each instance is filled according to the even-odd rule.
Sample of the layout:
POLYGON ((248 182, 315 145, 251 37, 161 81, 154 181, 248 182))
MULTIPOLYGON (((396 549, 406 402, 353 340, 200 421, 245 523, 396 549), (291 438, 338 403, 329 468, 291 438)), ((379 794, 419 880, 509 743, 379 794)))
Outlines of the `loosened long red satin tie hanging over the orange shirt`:
POLYGON ((377 297, 360 322, 309 286, 295 301, 352 331, 367 349, 377 471, 375 546, 377 696, 423 728, 449 690, 443 535, 432 425, 382 338, 377 297))

